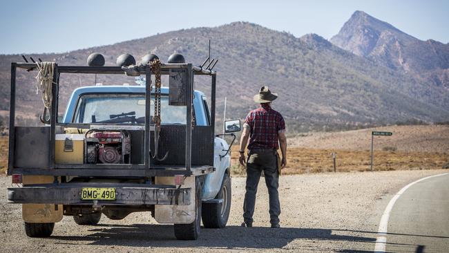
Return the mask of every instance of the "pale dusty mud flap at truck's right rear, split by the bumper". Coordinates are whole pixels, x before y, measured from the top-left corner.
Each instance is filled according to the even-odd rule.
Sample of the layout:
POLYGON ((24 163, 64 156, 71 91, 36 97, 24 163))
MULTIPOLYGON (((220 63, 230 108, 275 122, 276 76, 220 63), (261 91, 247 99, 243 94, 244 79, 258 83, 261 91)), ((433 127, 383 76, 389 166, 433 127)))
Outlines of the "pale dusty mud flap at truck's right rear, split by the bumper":
MULTIPOLYGON (((175 178, 171 176, 156 177, 156 185, 173 185, 175 178)), ((190 205, 155 205, 155 220, 158 223, 189 224, 195 221, 195 177, 189 176, 184 180, 183 188, 191 188, 190 205)))

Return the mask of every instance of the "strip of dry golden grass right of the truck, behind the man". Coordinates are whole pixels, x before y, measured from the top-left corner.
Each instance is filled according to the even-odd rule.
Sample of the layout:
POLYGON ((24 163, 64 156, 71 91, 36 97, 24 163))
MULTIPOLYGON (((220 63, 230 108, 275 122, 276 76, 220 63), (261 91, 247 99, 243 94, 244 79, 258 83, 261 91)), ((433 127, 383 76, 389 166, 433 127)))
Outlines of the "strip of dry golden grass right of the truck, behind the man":
MULTIPOLYGON (((288 147, 287 167, 283 174, 303 174, 334 171, 332 152, 336 152, 336 171, 369 171, 370 151, 305 149, 288 147)), ((374 170, 442 169, 449 162, 447 153, 411 151, 374 151, 374 170)), ((238 165, 238 150, 233 147, 232 172, 245 173, 238 165)))

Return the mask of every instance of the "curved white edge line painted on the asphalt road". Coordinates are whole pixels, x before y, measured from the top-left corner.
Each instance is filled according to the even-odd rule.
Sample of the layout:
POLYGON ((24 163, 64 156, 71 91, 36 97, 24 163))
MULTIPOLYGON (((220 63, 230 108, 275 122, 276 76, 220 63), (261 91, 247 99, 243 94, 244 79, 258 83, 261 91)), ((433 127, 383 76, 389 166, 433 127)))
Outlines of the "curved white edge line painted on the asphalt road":
POLYGON ((419 180, 416 180, 414 182, 410 182, 410 184, 405 185, 396 195, 393 196, 393 198, 388 203, 387 207, 385 208, 385 211, 383 212, 381 223, 379 223, 379 230, 377 231, 377 238, 376 238, 376 245, 374 246, 374 252, 383 253, 385 252, 385 246, 387 244, 387 232, 388 232, 388 218, 390 218, 390 213, 393 209, 394 203, 396 203, 396 200, 404 193, 405 190, 408 189, 408 187, 416 184, 417 182, 421 182, 423 180, 426 180, 428 178, 434 178, 436 176, 444 176, 449 173, 443 173, 433 176, 428 176, 426 178, 421 178, 419 180))

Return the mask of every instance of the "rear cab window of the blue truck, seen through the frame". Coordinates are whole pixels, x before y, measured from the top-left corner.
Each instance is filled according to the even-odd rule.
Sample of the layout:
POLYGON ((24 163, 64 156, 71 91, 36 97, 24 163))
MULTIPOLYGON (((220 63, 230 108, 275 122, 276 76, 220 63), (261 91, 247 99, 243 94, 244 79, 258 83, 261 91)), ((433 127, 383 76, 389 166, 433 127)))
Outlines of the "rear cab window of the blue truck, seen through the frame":
MULTIPOLYGON (((135 112, 137 123, 145 121, 144 94, 89 94, 79 97, 73 122, 93 123, 111 120, 113 115, 135 112)), ((151 100, 150 115, 154 115, 154 100, 151 100)), ((170 106, 169 97, 161 97, 162 124, 186 124, 186 106, 170 106)), ((128 123, 128 122, 123 122, 128 123)))

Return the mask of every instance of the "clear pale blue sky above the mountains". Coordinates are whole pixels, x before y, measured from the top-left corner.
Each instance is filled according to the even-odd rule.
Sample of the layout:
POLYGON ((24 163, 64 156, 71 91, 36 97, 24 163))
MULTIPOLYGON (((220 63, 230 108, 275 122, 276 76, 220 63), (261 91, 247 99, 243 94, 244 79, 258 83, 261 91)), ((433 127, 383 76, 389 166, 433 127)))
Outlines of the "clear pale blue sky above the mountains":
POLYGON ((439 0, 14 0, 1 3, 0 54, 64 53, 233 21, 330 39, 355 10, 418 39, 449 42, 449 1, 439 0))

